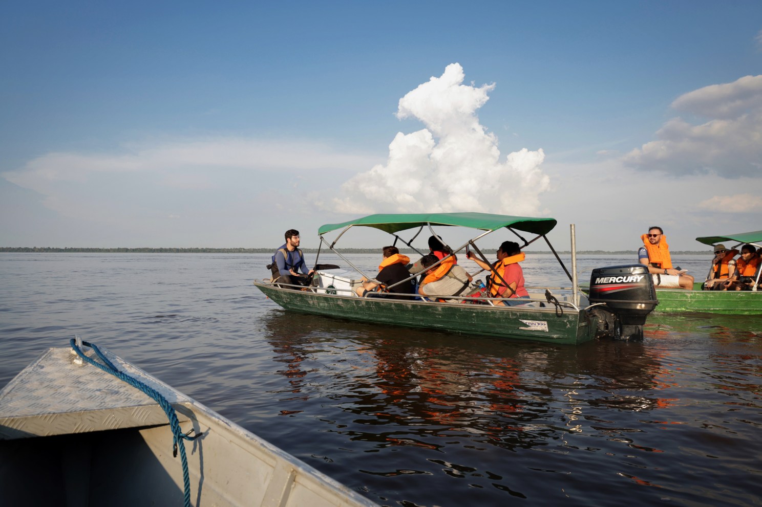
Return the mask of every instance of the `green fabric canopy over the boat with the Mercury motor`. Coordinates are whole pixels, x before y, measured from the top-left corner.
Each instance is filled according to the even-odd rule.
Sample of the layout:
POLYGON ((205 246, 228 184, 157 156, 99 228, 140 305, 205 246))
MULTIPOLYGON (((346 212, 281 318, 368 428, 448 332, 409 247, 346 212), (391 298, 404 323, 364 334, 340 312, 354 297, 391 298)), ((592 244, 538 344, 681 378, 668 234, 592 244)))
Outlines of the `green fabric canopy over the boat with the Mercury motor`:
POLYGON ((335 231, 349 225, 373 227, 394 234, 423 225, 452 225, 482 231, 496 231, 510 227, 533 234, 547 234, 555 227, 555 218, 533 218, 526 216, 492 215, 491 213, 400 213, 368 215, 341 224, 325 224, 318 234, 335 231))

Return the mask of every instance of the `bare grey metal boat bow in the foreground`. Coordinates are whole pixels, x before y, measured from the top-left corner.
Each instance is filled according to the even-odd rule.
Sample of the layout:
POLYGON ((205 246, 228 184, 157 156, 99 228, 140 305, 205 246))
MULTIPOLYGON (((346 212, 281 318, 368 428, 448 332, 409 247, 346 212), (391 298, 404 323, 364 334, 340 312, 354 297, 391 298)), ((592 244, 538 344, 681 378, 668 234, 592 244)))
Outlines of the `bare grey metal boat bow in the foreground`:
MULTIPOLYGON (((71 349, 50 349, 0 391, 2 505, 184 505, 181 460, 158 404, 71 349)), ((377 504, 106 353, 176 410, 191 505, 377 504)))

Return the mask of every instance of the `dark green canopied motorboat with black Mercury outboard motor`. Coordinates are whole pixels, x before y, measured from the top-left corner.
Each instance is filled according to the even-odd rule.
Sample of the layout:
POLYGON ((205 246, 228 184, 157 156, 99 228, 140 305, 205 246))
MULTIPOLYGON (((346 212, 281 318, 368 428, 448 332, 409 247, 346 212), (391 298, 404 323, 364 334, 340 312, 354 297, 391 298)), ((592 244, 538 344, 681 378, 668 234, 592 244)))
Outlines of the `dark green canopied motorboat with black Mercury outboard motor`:
MULTIPOLYGON (((463 295, 460 296, 448 296, 447 302, 420 297, 415 300, 361 298, 355 294, 354 289, 360 284, 362 276, 366 276, 367 279, 373 279, 373 276, 363 273, 361 269, 354 266, 347 257, 335 249, 338 239, 351 228, 356 227, 370 227, 385 231, 395 238, 395 246, 401 241, 415 251, 418 250, 411 243, 418 237, 418 234, 421 234, 421 231, 424 231, 424 228, 440 238, 440 235, 434 231, 435 227, 462 227, 475 229, 479 233, 460 247, 452 247, 453 254, 470 248, 485 263, 489 263, 476 244, 486 235, 495 231, 507 231, 514 234, 520 241, 519 244, 522 248, 543 238, 555 253, 555 249, 550 244, 546 234, 555 227, 556 223, 554 218, 472 212, 370 215, 340 224, 322 225, 318 231, 320 248, 315 263, 318 262, 320 251, 325 246, 352 266, 357 271, 356 276, 338 276, 335 273, 330 273, 329 270, 320 270, 319 265, 316 264, 318 270, 316 270, 315 276, 308 286, 286 285, 277 282, 277 279, 255 280, 254 285, 272 301, 289 311, 378 324, 424 327, 454 333, 501 336, 561 344, 584 343, 600 336, 624 339, 642 338, 642 324, 645 322, 645 314, 651 311, 655 301, 653 301, 652 306, 645 310, 645 314, 642 301, 636 302, 636 306, 639 306, 637 311, 630 311, 627 308, 632 305, 621 305, 624 298, 621 292, 616 296, 618 299, 614 301, 613 305, 605 302, 597 302, 591 305, 587 296, 578 287, 576 255, 574 253, 574 225, 571 225, 571 272, 566 269, 561 258, 557 254, 555 255, 561 268, 571 281, 571 287, 527 287, 530 298, 525 300, 527 303, 516 306, 500 305, 500 298, 491 298, 488 294, 474 298, 472 296, 474 291, 472 290, 463 292, 463 295), (325 234, 339 230, 341 232, 332 241, 325 238, 325 234), (407 241, 401 238, 399 233, 402 231, 408 231, 411 238, 407 241), (525 233, 532 234, 533 238, 525 233), (531 239, 527 240, 523 236, 531 239), (620 303, 620 305, 616 303, 620 303)), ((424 255, 420 251, 418 253, 421 256, 424 255)), ((446 260, 447 257, 444 257, 439 263, 446 260)), ((624 273, 623 269, 628 267, 642 268, 642 266, 616 266, 613 274, 624 273)), ((414 278, 415 275, 412 275, 408 279, 414 278)), ((647 279, 647 282, 652 284, 651 277, 641 276, 640 278, 647 279)), ((653 291, 652 285, 650 286, 650 290, 653 291)), ((393 293, 394 286, 390 286, 389 289, 393 293)), ((631 303, 632 301, 625 302, 631 303)))

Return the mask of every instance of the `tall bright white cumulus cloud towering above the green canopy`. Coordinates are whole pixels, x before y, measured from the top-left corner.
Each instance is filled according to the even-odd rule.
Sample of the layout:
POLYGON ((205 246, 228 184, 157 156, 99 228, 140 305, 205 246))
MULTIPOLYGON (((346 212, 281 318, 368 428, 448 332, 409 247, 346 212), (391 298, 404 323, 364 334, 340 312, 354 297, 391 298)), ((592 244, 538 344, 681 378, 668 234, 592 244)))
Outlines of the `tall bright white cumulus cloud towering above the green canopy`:
POLYGON ((440 77, 399 100, 397 116, 425 129, 399 132, 386 164, 355 175, 325 207, 341 213, 495 212, 542 215, 539 195, 549 188, 540 170, 542 149, 523 148, 501 161, 498 139, 476 111, 495 85, 463 85, 463 67, 447 65, 440 77))

